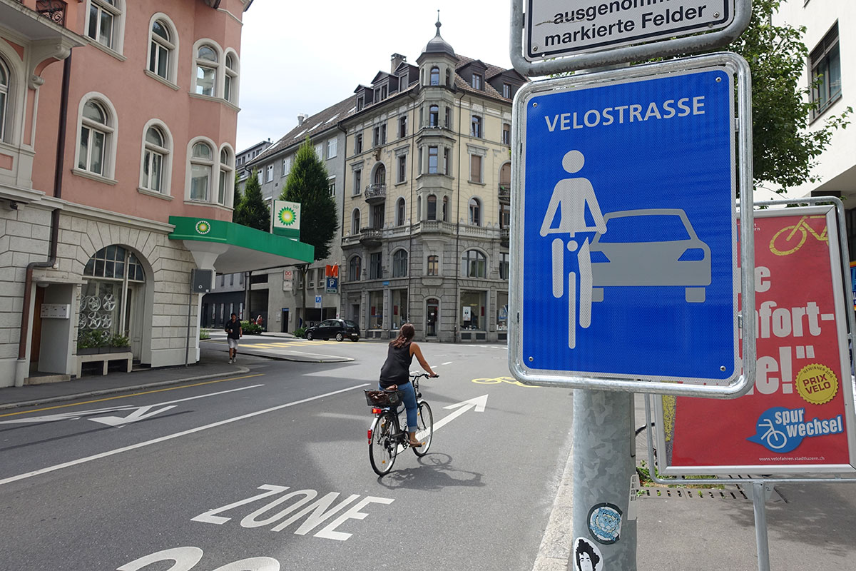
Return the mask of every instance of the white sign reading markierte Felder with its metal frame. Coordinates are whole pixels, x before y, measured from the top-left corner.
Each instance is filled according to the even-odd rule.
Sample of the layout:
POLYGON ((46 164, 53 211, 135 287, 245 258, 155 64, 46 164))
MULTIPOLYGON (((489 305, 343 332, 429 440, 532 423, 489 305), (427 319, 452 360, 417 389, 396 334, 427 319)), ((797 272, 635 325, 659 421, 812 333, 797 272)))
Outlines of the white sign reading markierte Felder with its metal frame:
POLYGON ((532 77, 710 51, 751 15, 751 0, 512 0, 511 62, 532 77))

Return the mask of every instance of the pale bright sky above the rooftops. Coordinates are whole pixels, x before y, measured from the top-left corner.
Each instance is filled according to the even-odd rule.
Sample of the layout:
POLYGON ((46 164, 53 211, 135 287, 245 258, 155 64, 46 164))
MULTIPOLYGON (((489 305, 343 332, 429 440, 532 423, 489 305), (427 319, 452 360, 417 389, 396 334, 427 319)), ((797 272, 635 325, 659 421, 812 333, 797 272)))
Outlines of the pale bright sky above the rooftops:
POLYGON ((508 0, 254 0, 241 33, 236 150, 276 142, 312 115, 389 73, 390 56, 416 58, 440 33, 455 52, 510 68, 508 0))

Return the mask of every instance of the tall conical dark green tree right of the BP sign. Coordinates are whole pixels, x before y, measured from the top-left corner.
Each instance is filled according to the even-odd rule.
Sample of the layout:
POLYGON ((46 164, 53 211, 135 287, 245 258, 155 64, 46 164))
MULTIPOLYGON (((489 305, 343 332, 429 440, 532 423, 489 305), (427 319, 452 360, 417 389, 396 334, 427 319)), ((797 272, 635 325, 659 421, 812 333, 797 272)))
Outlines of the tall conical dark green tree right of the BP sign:
MULTIPOLYGON (((300 203, 300 241, 315 247, 315 260, 330 257, 330 244, 339 228, 336 200, 330 196, 327 169, 315 154, 309 137, 294 155, 288 182, 282 189, 281 200, 300 203)), ((300 265, 303 288, 300 307, 306 307, 306 272, 308 264, 300 265)))

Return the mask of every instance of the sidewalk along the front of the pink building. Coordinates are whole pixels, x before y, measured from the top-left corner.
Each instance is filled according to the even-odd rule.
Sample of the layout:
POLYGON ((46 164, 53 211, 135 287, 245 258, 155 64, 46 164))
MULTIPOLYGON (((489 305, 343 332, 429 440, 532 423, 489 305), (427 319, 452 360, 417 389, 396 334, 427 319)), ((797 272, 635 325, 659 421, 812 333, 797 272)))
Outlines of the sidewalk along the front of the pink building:
POLYGON ((27 407, 58 401, 71 401, 86 396, 109 395, 126 390, 140 390, 166 384, 201 381, 209 378, 241 376, 245 366, 229 365, 229 354, 214 349, 201 349, 199 363, 144 369, 134 372, 108 372, 106 375, 84 375, 71 381, 29 384, 0 389, 0 410, 27 407))

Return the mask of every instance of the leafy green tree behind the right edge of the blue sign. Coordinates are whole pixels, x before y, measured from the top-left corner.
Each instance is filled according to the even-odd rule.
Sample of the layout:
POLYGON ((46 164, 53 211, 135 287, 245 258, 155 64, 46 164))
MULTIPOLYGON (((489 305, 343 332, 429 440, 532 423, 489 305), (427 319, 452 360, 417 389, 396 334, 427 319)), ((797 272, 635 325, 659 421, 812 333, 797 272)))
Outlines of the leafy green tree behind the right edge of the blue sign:
POLYGON ((754 0, 752 21, 728 51, 746 58, 752 69, 752 154, 755 184, 770 181, 785 192, 805 181, 817 181, 811 168, 829 145, 837 128, 846 128, 851 108, 829 116, 822 128, 808 130, 811 89, 823 82, 817 77, 800 86, 808 61, 802 43, 805 27, 774 26, 772 16, 782 0, 754 0))

